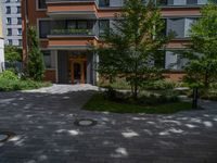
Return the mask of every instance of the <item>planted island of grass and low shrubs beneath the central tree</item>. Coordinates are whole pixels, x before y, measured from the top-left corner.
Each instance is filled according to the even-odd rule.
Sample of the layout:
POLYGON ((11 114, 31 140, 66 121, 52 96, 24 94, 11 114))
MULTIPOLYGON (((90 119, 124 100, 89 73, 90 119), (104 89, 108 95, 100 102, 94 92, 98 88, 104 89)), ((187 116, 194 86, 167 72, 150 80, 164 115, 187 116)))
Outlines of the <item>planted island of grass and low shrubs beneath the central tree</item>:
POLYGON ((171 114, 192 110, 191 102, 179 101, 176 97, 141 97, 137 101, 127 99, 111 100, 103 93, 94 95, 85 105, 85 110, 113 113, 171 114))

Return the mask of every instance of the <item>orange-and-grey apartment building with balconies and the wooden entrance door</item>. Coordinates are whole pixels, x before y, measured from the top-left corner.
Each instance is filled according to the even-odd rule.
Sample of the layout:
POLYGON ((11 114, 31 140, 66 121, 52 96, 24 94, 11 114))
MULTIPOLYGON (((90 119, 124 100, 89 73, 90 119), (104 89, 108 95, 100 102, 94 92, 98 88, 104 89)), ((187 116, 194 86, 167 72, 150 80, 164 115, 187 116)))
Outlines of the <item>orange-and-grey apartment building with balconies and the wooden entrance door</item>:
MULTIPOLYGON (((90 42, 98 43, 105 27, 113 25, 114 14, 120 12, 125 0, 36 0, 22 1, 23 51, 27 58, 26 29, 38 29, 40 47, 47 66, 46 79, 61 84, 95 84, 94 63, 98 55, 90 52, 90 42)), ((165 52, 164 67, 177 79, 186 61, 175 51, 189 41, 189 29, 200 17, 207 0, 159 0, 165 20, 165 33, 176 32, 165 52), (176 63, 176 64, 175 64, 176 63)))

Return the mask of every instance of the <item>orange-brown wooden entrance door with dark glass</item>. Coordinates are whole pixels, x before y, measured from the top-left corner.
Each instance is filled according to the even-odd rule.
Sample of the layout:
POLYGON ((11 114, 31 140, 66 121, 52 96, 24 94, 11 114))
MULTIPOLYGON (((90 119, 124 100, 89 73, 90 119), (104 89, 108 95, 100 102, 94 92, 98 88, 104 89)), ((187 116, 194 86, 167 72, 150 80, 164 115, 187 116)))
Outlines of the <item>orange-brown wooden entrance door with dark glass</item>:
POLYGON ((72 62, 72 84, 85 84, 86 70, 84 61, 72 62))

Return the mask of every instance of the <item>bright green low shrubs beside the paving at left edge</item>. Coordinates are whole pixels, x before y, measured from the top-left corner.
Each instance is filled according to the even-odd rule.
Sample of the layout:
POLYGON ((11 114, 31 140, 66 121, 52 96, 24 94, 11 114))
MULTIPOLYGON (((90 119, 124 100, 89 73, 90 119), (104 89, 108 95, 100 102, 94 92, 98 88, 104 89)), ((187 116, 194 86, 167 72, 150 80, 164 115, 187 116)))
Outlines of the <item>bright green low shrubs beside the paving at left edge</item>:
POLYGON ((5 71, 0 74, 0 91, 37 89, 49 86, 51 86, 51 83, 20 79, 17 75, 11 71, 5 71))

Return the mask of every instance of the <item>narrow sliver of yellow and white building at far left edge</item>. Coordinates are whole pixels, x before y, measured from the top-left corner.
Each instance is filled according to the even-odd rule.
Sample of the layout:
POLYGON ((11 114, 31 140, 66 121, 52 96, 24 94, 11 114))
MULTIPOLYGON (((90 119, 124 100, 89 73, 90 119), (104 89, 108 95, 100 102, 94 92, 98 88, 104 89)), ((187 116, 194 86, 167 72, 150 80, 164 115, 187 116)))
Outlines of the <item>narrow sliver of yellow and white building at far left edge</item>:
POLYGON ((3 70, 4 62, 4 43, 3 43, 3 29, 2 29, 2 8, 0 7, 0 73, 3 70))

